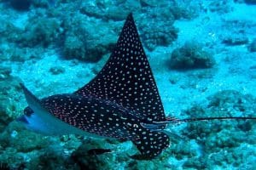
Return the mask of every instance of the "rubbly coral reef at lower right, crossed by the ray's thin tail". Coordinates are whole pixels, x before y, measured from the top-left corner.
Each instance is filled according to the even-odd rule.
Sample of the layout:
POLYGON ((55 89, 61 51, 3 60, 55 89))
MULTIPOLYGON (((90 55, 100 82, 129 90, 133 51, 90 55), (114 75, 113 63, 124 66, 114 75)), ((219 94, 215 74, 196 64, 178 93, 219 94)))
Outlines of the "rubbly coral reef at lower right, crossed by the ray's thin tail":
MULTIPOLYGON (((191 117, 253 116, 256 111, 256 99, 250 94, 227 90, 218 92, 208 99, 207 106, 194 106, 186 113, 191 117)), ((195 139, 201 145, 201 156, 189 159, 183 166, 216 168, 231 164, 239 168, 243 163, 248 163, 253 167, 255 153, 250 150, 237 150, 243 150, 245 145, 253 147, 255 128, 253 121, 189 122, 183 129, 183 135, 195 139), (207 156, 208 153, 212 153, 210 157, 207 156), (249 162, 247 157, 250 159, 249 162)))

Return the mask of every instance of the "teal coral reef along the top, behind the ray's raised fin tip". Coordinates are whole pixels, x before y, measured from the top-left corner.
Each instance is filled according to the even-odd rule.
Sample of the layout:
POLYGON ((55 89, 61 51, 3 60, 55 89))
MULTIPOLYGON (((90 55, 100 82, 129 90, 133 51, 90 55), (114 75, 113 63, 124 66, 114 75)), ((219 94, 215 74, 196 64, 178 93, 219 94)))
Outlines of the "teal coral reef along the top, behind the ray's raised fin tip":
MULTIPOLYGON (((147 15, 140 17, 142 22, 138 23, 138 27, 145 47, 151 51, 158 46, 168 46, 177 39, 174 20, 193 17, 189 7, 184 8, 168 1, 81 2, 79 13, 75 15, 72 11, 77 5, 68 1, 61 2, 59 8, 49 8, 53 7, 52 1, 27 2, 29 8, 37 8, 38 11, 24 20, 26 22, 21 27, 25 29, 14 26, 8 20, 3 20, 3 29, 0 27, 0 32, 3 30, 3 38, 8 38, 9 42, 13 43, 12 48, 55 47, 61 50, 63 59, 89 62, 96 62, 102 59, 104 54, 111 52, 119 34, 116 30, 121 26, 117 21, 125 20, 131 11, 148 11, 147 15), (61 11, 67 13, 63 14, 61 11), (152 20, 147 20, 148 18, 152 20)), ((60 5, 60 2, 58 4, 60 5)))

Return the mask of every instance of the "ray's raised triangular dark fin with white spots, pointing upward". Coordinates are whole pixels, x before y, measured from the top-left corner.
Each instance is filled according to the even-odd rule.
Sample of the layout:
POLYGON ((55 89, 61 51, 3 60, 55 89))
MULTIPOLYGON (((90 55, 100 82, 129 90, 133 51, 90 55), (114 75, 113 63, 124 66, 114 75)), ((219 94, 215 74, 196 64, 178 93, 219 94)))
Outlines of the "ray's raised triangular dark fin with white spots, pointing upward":
POLYGON ((75 94, 110 99, 148 121, 165 121, 165 113, 132 14, 102 71, 75 94))

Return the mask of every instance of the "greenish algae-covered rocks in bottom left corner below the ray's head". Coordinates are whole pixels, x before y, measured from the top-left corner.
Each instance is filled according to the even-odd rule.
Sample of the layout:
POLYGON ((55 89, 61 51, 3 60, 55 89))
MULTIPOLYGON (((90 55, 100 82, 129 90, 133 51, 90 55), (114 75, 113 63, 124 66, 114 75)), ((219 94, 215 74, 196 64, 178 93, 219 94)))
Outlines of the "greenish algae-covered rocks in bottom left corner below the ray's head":
POLYGON ((44 136, 11 122, 0 133, 0 163, 11 169, 79 169, 71 159, 79 144, 74 135, 44 136))

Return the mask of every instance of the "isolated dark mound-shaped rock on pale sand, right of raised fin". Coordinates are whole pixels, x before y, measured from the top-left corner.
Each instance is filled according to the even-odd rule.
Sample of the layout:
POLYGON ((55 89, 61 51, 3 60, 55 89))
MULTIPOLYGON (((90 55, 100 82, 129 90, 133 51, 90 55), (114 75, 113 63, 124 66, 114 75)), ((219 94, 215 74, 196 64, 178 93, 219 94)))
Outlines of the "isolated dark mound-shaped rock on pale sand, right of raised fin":
POLYGON ((170 61, 173 69, 211 68, 214 64, 212 55, 193 42, 186 42, 183 47, 174 49, 170 61))

